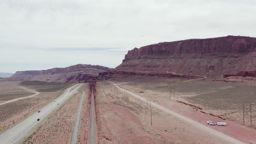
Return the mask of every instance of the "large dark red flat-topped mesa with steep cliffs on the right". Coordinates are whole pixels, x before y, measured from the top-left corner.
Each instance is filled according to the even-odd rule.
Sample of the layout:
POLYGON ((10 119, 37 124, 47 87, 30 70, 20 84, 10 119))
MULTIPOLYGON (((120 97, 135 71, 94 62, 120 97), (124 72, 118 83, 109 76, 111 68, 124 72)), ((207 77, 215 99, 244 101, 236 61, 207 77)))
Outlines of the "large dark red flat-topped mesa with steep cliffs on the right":
POLYGON ((252 71, 256 70, 256 38, 228 36, 143 46, 128 51, 115 69, 208 78, 252 71))

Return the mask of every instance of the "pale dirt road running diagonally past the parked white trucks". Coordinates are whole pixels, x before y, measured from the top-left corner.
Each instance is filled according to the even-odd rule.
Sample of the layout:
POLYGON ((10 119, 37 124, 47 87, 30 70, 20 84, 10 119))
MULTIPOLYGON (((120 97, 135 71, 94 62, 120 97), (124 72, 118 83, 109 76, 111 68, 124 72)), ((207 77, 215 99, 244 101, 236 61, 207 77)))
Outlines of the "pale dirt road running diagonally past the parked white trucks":
MULTIPOLYGON (((132 93, 132 92, 130 92, 130 91, 127 91, 126 89, 119 87, 116 83, 113 83, 113 82, 110 82, 110 83, 112 83, 115 87, 119 88, 121 91, 124 91, 124 92, 126 91, 128 94, 132 95, 133 97, 138 98, 138 99, 144 101, 144 103, 147 103, 148 100, 147 100, 146 98, 143 98, 143 97, 141 97, 141 96, 139 96, 139 95, 137 95, 137 94, 135 94, 135 93, 132 93)), ((193 119, 190 119, 190 118, 188 118, 188 117, 185 117, 185 116, 183 116, 183 115, 181 115, 181 114, 179 114, 179 113, 176 113, 176 112, 174 112, 174 111, 171 111, 170 109, 167 109, 167 108, 164 107, 164 106, 161 106, 161 105, 159 105, 159 104, 156 104, 156 103, 154 103, 153 101, 151 101, 151 106, 155 107, 156 109, 162 110, 162 111, 164 111, 164 112, 166 112, 166 113, 170 113, 170 114, 173 115, 173 116, 176 116, 176 117, 178 117, 178 118, 181 118, 181 119, 183 119, 184 121, 187 121, 187 122, 189 122, 189 123, 195 125, 196 127, 202 129, 203 131, 207 131, 207 132, 209 132, 209 133, 212 134, 212 135, 218 136, 220 139, 229 141, 230 143, 236 143, 236 144, 243 143, 243 142, 241 142, 241 141, 239 141, 239 140, 234 139, 233 137, 230 137, 230 136, 228 136, 228 135, 225 135, 225 134, 223 134, 223 133, 220 133, 220 132, 217 131, 217 130, 214 130, 214 129, 212 129, 212 128, 206 127, 205 125, 202 125, 201 123, 198 123, 198 122, 196 122, 196 121, 193 121, 193 119)))

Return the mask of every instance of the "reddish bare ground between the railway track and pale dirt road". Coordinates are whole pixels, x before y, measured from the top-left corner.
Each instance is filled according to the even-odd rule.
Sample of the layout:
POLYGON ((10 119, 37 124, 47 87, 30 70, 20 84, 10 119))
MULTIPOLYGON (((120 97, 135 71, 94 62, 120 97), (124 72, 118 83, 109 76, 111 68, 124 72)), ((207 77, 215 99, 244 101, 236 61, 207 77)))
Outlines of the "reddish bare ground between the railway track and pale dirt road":
POLYGON ((151 125, 149 105, 128 99, 113 85, 97 83, 99 143, 228 143, 153 107, 151 125))

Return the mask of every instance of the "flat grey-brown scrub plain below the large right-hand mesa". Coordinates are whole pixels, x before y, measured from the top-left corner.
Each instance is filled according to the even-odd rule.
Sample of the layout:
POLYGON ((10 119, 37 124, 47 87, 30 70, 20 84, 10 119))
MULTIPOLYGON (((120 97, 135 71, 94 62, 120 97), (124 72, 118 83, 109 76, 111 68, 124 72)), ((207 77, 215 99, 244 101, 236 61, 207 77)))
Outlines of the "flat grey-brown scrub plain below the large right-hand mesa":
MULTIPOLYGON (((188 81, 183 79, 123 79, 120 85, 135 92, 144 92, 156 99, 174 98, 202 108, 204 112, 223 117, 238 124, 243 123, 242 103, 252 103, 252 125, 248 115, 245 122, 248 127, 256 128, 256 89, 255 82, 225 83, 213 81, 188 81), (142 82, 141 82, 142 81, 142 82), (144 83, 145 84, 144 84, 144 83)), ((249 112, 250 105, 245 105, 249 112)))

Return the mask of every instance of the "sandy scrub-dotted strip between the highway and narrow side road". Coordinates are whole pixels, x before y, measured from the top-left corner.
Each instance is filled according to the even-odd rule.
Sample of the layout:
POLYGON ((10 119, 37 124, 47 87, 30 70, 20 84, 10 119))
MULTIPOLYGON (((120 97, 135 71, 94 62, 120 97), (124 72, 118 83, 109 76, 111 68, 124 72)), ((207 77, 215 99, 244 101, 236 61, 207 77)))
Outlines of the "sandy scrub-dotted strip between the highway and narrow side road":
POLYGON ((75 94, 23 143, 69 143, 80 97, 81 93, 75 94))

